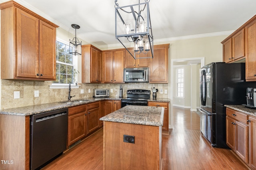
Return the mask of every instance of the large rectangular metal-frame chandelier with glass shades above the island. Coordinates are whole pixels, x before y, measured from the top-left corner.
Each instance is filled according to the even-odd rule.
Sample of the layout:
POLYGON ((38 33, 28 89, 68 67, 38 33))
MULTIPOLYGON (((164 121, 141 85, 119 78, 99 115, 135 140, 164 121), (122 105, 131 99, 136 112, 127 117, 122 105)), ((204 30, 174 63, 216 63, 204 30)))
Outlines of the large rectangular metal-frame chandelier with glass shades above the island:
POLYGON ((148 3, 145 2, 120 7, 115 0, 116 39, 126 48, 134 59, 153 58, 153 35, 148 3), (125 43, 127 42, 127 43, 125 43), (133 44, 134 54, 127 49, 133 44), (125 45, 127 44, 127 45, 125 45), (137 57, 136 54, 148 53, 150 57, 137 57))

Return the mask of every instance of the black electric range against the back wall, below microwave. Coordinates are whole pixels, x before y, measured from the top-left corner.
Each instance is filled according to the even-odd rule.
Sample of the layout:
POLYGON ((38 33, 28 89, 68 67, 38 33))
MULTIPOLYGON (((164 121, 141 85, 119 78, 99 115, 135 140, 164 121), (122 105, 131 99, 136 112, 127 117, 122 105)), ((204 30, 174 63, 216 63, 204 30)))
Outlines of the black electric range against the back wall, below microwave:
POLYGON ((133 89, 127 90, 127 97, 121 99, 121 107, 126 105, 147 106, 150 98, 150 90, 133 89))

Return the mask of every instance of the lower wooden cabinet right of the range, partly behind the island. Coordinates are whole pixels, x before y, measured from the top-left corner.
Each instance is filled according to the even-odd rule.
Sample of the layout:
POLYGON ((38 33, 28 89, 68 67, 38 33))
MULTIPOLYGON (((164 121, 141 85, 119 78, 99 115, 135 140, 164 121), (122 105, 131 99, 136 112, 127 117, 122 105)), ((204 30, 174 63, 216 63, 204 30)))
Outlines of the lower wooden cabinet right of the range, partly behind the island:
POLYGON ((148 102, 148 106, 164 107, 164 125, 162 134, 169 134, 169 102, 148 102))

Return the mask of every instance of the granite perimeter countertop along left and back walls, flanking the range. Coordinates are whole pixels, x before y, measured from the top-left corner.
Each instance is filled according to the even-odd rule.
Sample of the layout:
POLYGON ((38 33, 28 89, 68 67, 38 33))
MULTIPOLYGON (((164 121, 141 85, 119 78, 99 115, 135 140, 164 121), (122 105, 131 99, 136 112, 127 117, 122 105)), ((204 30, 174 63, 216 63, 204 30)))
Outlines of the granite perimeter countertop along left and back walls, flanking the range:
MULTIPOLYGON (((18 116, 29 116, 29 115, 35 115, 39 113, 44 113, 48 111, 54 111, 58 109, 64 109, 72 106, 78 106, 78 105, 83 105, 87 103, 92 103, 95 101, 101 101, 101 100, 121 100, 122 98, 119 97, 88 97, 88 98, 83 98, 83 99, 75 99, 72 101, 77 101, 77 102, 72 102, 70 104, 67 103, 67 101, 60 101, 60 102, 54 102, 54 103, 46 103, 46 104, 41 104, 41 105, 32 105, 32 106, 25 106, 25 107, 17 107, 17 108, 12 108, 12 109, 4 109, 0 110, 0 114, 5 114, 5 115, 18 115, 18 116)), ((153 99, 153 98, 152 98, 153 99)), ((169 99, 161 99, 161 98, 156 98, 154 101, 166 101, 168 102, 169 99)), ((150 99, 148 101, 151 101, 150 99)))

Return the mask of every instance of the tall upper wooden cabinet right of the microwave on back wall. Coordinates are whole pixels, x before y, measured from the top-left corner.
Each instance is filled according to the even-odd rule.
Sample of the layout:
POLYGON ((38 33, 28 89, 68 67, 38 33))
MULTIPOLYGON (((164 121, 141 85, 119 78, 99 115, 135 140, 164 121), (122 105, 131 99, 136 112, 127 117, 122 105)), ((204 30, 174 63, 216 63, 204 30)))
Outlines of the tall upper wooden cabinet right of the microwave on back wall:
POLYGON ((169 46, 154 45, 154 58, 150 59, 150 83, 168 83, 169 46))

